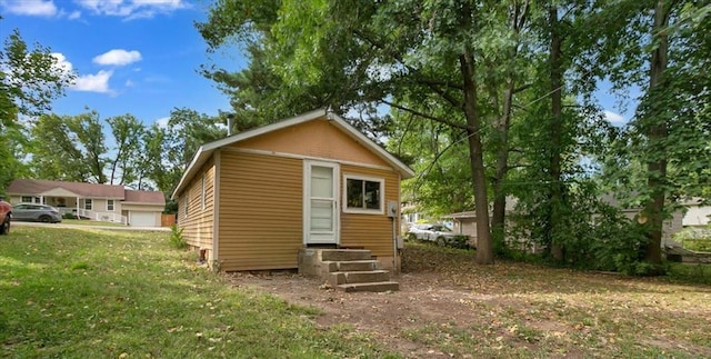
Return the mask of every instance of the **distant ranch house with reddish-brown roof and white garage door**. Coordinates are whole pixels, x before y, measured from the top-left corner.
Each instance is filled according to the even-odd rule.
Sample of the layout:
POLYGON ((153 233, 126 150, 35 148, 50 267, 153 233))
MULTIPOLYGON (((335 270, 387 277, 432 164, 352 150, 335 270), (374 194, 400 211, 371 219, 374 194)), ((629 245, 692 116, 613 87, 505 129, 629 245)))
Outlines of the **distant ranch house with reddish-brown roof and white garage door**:
POLYGON ((62 213, 131 227, 160 227, 166 208, 163 192, 134 191, 123 186, 16 179, 7 192, 13 205, 42 203, 62 213))

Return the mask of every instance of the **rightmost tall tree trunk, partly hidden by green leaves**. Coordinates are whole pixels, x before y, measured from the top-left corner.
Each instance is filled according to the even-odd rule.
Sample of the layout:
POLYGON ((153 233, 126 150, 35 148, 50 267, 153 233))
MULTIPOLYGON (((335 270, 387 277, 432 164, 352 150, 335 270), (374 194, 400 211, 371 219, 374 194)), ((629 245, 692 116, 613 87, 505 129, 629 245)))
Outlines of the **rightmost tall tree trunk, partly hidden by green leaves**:
MULTIPOLYGON (((652 51, 649 73, 649 93, 651 98, 654 92, 664 82, 664 71, 667 70, 669 38, 665 28, 669 23, 670 6, 665 0, 657 1, 654 9, 654 26, 652 37, 655 39, 657 48, 652 51)), ((652 100, 653 101, 653 100, 652 100)), ((651 103, 651 113, 647 120, 650 126, 647 127, 647 136, 649 143, 654 146, 662 142, 667 138, 667 122, 663 118, 660 103, 651 103)), ((647 202, 644 212, 649 218, 648 245, 644 259, 654 265, 661 265, 662 252, 662 227, 663 227, 663 209, 664 209, 664 180, 667 177, 667 160, 663 156, 655 156, 647 163, 648 177, 647 185, 651 189, 652 197, 647 202)))

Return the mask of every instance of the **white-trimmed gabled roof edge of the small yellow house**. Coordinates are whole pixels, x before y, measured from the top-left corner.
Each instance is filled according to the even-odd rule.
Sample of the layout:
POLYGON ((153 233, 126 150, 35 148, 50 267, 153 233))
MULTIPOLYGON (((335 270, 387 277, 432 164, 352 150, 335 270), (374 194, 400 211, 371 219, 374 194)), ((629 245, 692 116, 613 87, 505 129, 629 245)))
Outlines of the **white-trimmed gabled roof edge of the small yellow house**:
POLYGON ((210 159, 210 156, 212 156, 212 152, 214 152, 214 150, 224 146, 229 146, 232 143, 244 141, 247 139, 254 138, 260 134, 264 134, 264 133, 284 129, 291 126, 309 122, 322 117, 326 117, 329 121, 331 121, 332 124, 334 124, 346 134, 350 136, 353 140, 358 141, 363 147, 369 149, 371 152, 375 153, 382 160, 384 160, 390 166, 395 168, 400 172, 400 176, 402 176, 403 179, 414 177, 414 172, 407 164, 404 164, 398 158, 395 158, 394 156, 385 151, 382 147, 378 146, 378 143, 373 142, 365 134, 361 133, 359 130, 350 126, 348 122, 346 122, 346 120, 343 120, 342 118, 340 118, 339 116, 337 116, 331 111, 328 111, 326 109, 320 109, 320 110, 307 112, 297 117, 292 117, 290 119, 286 119, 276 123, 271 123, 271 124, 258 127, 248 131, 239 132, 230 137, 202 144, 200 149, 198 149, 198 152, 196 152, 194 157, 192 158, 192 161, 188 166, 188 169, 186 169, 186 171, 183 172, 182 178, 180 179, 178 187, 176 187, 176 190, 173 191, 172 197, 174 198, 178 193, 180 193, 180 191, 182 191, 182 189, 188 185, 189 179, 193 178, 198 173, 202 164, 204 164, 204 162, 207 162, 208 159, 210 159))

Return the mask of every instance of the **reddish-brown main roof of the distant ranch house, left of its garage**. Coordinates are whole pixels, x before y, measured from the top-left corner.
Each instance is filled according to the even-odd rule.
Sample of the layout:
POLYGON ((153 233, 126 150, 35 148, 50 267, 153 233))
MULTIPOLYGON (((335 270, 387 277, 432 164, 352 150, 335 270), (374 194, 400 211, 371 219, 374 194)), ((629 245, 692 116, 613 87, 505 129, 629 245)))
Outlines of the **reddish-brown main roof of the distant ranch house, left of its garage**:
POLYGON ((62 188, 74 195, 88 198, 123 199, 126 196, 122 186, 34 179, 16 179, 8 187, 8 195, 40 196, 56 188, 62 188))

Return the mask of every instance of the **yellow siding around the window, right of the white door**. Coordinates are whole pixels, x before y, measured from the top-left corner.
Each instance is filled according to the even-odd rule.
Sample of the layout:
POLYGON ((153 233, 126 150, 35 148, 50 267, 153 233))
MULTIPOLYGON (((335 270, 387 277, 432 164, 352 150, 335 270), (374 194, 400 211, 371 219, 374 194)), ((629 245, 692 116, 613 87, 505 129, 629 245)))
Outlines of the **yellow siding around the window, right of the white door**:
MULTIPOLYGON (((340 188, 343 193, 343 176, 360 174, 385 180, 385 212, 388 201, 399 201, 400 177, 394 171, 341 164, 340 188)), ((342 196, 342 195, 341 195, 342 196)), ((387 215, 346 213, 341 206, 341 246, 363 247, 373 256, 392 257, 392 219, 387 215)), ((395 216, 395 231, 399 230, 400 215, 395 216)))

